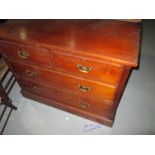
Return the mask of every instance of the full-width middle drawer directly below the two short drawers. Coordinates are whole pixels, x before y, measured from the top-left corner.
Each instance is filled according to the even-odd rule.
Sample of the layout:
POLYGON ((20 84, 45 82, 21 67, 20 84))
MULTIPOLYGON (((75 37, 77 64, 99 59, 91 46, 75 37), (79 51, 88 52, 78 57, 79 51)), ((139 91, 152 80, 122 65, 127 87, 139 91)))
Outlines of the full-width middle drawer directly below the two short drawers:
POLYGON ((52 87, 65 89, 70 93, 93 98, 99 101, 112 101, 116 92, 116 87, 104 83, 97 83, 74 76, 69 76, 61 72, 45 70, 41 67, 34 67, 15 62, 9 62, 13 71, 23 77, 35 80, 52 87))

